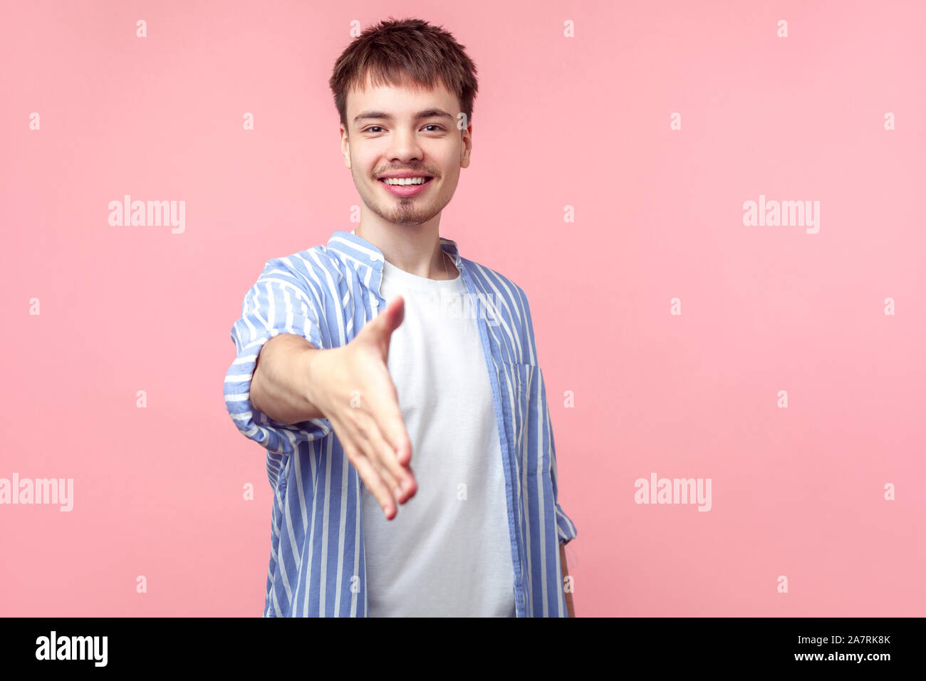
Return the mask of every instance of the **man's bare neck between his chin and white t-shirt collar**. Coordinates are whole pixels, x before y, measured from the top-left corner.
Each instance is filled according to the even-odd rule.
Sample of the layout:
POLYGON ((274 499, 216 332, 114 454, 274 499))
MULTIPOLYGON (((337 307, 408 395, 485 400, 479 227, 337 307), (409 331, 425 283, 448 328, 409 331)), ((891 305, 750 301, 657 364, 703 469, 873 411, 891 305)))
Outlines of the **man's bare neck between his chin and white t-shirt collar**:
POLYGON ((370 224, 363 221, 354 233, 382 251, 386 262, 425 279, 454 279, 457 269, 441 248, 438 222, 370 224))

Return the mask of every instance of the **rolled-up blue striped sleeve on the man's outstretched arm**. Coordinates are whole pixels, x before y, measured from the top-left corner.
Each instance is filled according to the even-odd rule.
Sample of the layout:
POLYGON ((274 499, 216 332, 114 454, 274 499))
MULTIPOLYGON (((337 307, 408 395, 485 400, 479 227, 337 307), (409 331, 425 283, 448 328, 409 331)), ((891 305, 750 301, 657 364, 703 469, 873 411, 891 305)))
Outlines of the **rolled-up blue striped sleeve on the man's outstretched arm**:
POLYGON ((260 348, 277 334, 306 338, 324 348, 324 306, 286 259, 272 259, 244 295, 241 317, 232 324, 236 357, 225 374, 225 408, 245 437, 269 452, 291 454, 299 442, 332 432, 327 419, 292 424, 275 421, 251 403, 251 380, 260 348))

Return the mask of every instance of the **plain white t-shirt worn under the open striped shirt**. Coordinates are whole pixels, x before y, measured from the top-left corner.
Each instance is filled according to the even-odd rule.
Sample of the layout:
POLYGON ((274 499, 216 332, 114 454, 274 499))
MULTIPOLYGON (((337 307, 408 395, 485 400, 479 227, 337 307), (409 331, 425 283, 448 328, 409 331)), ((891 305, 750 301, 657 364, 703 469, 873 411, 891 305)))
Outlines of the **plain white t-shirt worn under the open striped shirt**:
MULTIPOLYGON (((453 272, 451 272, 452 274, 453 272)), ((405 298, 387 366, 418 491, 393 520, 363 488, 370 617, 515 617, 492 386, 466 284, 383 263, 382 297, 405 298)))

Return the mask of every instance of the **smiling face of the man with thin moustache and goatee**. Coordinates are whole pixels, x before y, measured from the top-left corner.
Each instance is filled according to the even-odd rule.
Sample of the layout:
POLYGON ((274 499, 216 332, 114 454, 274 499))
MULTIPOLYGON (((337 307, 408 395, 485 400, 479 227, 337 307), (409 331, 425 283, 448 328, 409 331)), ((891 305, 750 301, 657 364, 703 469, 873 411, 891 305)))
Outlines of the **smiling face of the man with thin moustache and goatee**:
POLYGON ((384 221, 411 225, 444 209, 460 169, 469 166, 472 127, 457 129, 458 111, 457 95, 443 84, 415 91, 373 87, 368 78, 364 91, 348 93, 341 150, 367 208, 384 221), (425 182, 391 186, 382 177, 407 170, 425 182))

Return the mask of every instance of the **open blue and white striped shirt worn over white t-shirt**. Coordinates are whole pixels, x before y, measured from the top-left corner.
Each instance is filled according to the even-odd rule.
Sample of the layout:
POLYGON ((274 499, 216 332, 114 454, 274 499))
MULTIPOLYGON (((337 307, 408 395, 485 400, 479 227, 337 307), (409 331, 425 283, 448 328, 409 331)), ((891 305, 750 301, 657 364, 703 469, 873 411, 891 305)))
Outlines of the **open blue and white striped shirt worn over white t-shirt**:
MULTIPOLYGON (((556 447, 527 296, 461 258, 455 241, 440 240, 469 291, 492 385, 517 616, 566 617, 559 543, 574 538, 576 527, 557 501, 556 447)), ((319 348, 353 340, 388 303, 380 295, 382 262, 379 248, 338 230, 327 246, 269 260, 232 325, 237 357, 225 376, 225 406, 238 429, 267 449, 274 494, 265 617, 368 614, 357 470, 326 419, 274 421, 254 408, 249 390, 257 353, 277 334, 319 348)))

